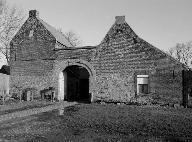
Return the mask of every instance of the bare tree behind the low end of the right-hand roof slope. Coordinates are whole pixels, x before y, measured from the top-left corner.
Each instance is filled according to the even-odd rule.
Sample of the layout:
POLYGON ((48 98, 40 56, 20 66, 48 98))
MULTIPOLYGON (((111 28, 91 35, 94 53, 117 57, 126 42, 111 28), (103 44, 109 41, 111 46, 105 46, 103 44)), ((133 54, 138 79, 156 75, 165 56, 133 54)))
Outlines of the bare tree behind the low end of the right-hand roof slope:
POLYGON ((178 43, 175 47, 170 48, 168 53, 178 61, 190 67, 192 61, 192 41, 178 43))

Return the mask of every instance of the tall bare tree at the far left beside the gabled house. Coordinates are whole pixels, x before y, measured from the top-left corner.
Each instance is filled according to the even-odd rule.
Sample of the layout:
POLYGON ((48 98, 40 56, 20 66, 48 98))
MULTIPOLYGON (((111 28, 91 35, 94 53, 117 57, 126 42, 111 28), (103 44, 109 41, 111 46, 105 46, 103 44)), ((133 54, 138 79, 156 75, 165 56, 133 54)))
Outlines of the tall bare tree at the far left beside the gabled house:
POLYGON ((24 16, 17 7, 7 4, 6 0, 0 0, 0 53, 9 64, 9 43, 23 23, 24 16))

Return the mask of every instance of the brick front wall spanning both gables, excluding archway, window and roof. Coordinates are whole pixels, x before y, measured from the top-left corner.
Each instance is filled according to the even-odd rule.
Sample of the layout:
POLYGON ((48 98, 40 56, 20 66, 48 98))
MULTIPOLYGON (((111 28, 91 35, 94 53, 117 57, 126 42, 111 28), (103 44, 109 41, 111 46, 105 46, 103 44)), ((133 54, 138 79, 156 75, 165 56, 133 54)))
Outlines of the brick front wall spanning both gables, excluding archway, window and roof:
POLYGON ((149 97, 158 102, 182 100, 182 64, 138 37, 123 17, 116 18, 95 48, 53 50, 55 42, 39 20, 30 16, 11 42, 11 86, 37 90, 54 86, 57 90, 65 61, 73 64, 81 59, 95 73, 90 86, 94 100, 128 102, 140 97, 137 75, 149 75, 149 97))

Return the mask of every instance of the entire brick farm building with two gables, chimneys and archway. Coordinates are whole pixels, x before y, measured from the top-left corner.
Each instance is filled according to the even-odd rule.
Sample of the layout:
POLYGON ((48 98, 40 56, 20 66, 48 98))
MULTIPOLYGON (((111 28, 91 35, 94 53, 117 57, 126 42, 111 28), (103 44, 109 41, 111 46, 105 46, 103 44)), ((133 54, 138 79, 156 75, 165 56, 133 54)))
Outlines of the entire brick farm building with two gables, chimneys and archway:
POLYGON ((10 88, 55 89, 66 101, 130 102, 151 97, 182 102, 183 64, 149 44, 126 23, 115 22, 97 46, 72 47, 36 10, 10 43, 10 88))

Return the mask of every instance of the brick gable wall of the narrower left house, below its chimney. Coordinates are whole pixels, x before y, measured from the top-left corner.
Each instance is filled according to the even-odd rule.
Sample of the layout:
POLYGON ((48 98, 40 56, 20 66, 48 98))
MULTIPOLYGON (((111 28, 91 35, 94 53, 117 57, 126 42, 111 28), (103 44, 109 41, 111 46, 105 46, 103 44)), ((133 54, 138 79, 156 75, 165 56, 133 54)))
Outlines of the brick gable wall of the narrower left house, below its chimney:
POLYGON ((39 91, 52 86, 51 59, 56 39, 36 16, 29 16, 11 41, 11 90, 19 87, 39 91))

